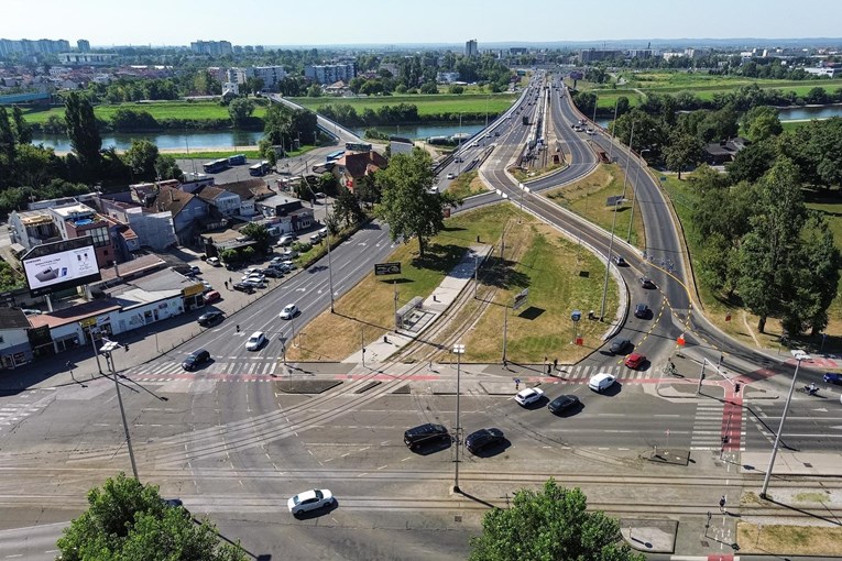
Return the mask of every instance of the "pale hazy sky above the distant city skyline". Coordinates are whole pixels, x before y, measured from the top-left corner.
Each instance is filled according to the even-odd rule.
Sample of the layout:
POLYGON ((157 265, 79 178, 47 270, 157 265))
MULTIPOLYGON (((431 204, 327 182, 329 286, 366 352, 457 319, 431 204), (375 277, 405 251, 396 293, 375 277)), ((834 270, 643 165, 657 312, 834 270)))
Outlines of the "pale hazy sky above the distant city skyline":
POLYGON ((2 0, 0 37, 327 45, 838 37, 842 1, 2 0))

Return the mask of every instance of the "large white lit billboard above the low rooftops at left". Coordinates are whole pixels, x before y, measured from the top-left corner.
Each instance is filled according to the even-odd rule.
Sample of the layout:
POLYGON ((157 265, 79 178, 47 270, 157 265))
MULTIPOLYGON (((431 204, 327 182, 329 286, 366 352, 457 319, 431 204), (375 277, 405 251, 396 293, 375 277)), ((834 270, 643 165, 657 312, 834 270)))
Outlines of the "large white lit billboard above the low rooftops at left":
POLYGON ((33 297, 102 279, 89 235, 37 245, 21 264, 33 297))

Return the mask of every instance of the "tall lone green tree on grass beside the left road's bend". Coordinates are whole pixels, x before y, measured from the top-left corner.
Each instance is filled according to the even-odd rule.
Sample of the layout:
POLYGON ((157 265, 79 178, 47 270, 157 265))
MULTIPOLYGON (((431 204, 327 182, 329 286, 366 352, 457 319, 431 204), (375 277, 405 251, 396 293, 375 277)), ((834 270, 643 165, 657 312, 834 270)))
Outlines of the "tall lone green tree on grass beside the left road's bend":
POLYGON ((417 238, 420 257, 429 238, 445 227, 442 199, 430 193, 435 183, 431 166, 429 154, 416 147, 411 154, 392 157, 389 167, 375 174, 382 193, 375 213, 389 223, 392 241, 417 238))

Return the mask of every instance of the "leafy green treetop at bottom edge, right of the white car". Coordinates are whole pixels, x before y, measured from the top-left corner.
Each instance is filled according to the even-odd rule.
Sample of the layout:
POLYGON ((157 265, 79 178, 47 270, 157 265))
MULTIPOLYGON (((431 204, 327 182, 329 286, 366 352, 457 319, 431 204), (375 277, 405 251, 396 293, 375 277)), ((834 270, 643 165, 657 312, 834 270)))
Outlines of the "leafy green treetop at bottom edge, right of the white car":
POLYGON ((482 519, 482 535, 471 539, 471 561, 523 559, 570 561, 643 561, 621 542, 620 522, 587 510, 579 488, 554 480, 542 491, 521 490, 511 508, 494 508, 482 519))

